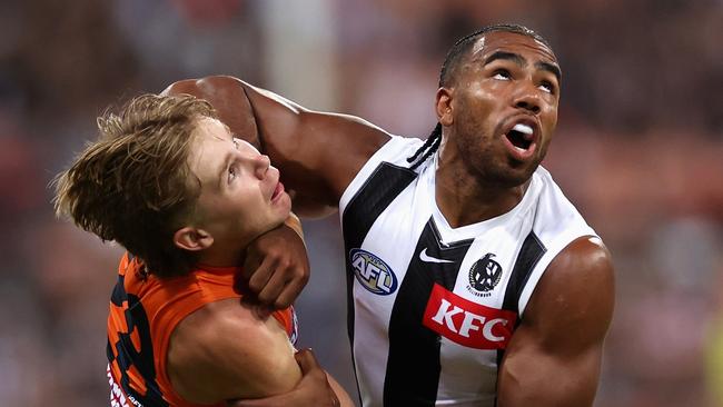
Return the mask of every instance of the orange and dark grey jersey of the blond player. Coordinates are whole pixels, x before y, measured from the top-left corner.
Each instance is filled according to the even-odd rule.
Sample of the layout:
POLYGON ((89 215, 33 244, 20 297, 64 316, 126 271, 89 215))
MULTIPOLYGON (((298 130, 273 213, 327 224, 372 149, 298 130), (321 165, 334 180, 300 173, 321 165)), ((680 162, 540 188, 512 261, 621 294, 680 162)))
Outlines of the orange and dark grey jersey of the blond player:
MULTIPOLYGON (((240 298, 234 291, 234 276, 239 269, 204 266, 187 276, 159 279, 143 275, 142 268, 142 262, 126 254, 110 297, 107 348, 110 406, 196 406, 174 391, 166 371, 168 343, 174 328, 195 310, 221 299, 240 298)), ((294 309, 273 315, 294 343, 297 336, 294 309)))

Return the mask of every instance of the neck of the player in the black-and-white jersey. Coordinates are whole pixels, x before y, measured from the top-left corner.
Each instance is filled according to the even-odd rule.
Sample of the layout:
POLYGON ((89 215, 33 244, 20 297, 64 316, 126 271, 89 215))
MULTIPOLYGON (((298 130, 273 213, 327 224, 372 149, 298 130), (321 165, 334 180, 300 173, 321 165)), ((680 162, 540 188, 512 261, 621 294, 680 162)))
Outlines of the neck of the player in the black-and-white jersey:
POLYGON ((473 173, 460 157, 440 159, 435 200, 453 228, 492 219, 512 210, 525 195, 529 180, 509 187, 473 173))

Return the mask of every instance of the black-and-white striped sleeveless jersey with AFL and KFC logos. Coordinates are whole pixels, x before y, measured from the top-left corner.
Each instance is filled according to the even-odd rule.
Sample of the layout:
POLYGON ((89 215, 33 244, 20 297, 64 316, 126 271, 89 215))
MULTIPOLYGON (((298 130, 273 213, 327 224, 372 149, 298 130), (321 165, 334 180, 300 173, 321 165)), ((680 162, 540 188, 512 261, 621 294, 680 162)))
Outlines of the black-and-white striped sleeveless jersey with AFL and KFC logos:
POLYGON ((537 281, 596 236, 539 167, 507 214, 452 228, 435 202, 436 158, 392 137, 339 201, 348 329, 364 406, 494 406, 497 367, 537 281))

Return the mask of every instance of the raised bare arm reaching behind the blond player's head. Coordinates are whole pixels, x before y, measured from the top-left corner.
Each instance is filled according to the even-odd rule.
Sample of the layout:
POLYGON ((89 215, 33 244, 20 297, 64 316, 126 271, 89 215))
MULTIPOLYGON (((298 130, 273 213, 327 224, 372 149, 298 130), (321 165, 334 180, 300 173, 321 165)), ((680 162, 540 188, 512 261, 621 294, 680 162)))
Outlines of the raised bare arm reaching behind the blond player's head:
POLYGON ((164 93, 208 100, 231 131, 269 156, 295 192, 301 216, 328 215, 354 176, 389 135, 359 118, 316 112, 237 78, 172 83, 164 93))

